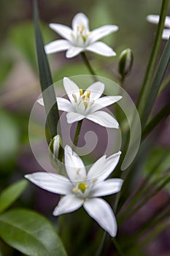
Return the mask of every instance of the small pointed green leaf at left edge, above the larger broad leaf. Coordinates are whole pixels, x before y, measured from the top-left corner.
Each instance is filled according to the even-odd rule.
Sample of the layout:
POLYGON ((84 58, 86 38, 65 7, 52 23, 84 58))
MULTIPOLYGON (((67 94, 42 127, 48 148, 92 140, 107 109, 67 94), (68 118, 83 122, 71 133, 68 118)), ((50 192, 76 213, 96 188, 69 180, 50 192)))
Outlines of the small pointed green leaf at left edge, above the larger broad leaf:
POLYGON ((25 179, 17 181, 10 185, 0 194, 0 213, 5 211, 9 206, 12 205, 15 200, 23 193, 26 189, 28 182, 25 179))

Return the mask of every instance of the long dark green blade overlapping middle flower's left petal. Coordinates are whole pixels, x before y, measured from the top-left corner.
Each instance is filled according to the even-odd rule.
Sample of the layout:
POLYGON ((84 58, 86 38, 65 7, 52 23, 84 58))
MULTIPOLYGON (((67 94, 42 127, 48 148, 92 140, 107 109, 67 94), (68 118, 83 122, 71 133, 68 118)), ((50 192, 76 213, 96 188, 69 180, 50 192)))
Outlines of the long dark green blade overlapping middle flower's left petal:
POLYGON ((47 127, 50 132, 50 137, 53 138, 55 135, 57 135, 59 113, 50 67, 48 65, 42 34, 39 28, 39 15, 36 0, 34 0, 34 29, 36 39, 36 55, 39 67, 39 79, 42 89, 42 97, 45 103, 45 111, 47 114, 47 127), (51 106, 53 107, 51 108, 51 106))

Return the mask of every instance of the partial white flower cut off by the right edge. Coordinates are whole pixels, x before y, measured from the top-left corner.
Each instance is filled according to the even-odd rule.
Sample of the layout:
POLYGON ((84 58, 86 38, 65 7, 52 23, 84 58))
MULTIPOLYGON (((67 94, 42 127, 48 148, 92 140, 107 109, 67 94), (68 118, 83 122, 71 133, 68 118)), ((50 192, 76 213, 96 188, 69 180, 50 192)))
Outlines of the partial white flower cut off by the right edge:
MULTIPOLYGON (((159 15, 148 15, 147 20, 150 21, 151 23, 158 24, 159 23, 159 15)), ((165 26, 168 29, 163 29, 162 38, 168 40, 170 37, 170 17, 169 16, 166 16, 165 26)))

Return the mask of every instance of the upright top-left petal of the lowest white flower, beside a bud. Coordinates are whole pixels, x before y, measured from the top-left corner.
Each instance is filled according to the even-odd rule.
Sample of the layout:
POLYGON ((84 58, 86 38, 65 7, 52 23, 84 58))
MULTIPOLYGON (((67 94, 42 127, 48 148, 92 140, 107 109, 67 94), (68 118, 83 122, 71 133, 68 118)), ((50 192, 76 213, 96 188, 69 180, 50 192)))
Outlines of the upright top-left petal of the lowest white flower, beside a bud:
POLYGON ((66 172, 71 181, 82 181, 85 179, 85 165, 82 159, 68 145, 64 148, 64 160, 66 172))

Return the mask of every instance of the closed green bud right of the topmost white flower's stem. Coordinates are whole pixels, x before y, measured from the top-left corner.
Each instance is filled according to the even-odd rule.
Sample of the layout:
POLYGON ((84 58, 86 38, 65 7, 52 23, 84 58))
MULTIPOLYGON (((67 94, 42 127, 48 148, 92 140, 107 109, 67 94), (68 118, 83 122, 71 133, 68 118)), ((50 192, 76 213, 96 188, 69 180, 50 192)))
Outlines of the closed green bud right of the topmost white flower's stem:
POLYGON ((133 60, 134 56, 131 49, 125 49, 120 53, 118 70, 123 78, 131 72, 133 60))

